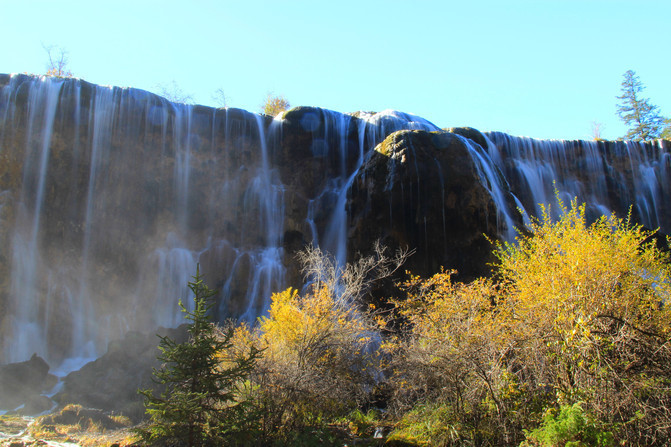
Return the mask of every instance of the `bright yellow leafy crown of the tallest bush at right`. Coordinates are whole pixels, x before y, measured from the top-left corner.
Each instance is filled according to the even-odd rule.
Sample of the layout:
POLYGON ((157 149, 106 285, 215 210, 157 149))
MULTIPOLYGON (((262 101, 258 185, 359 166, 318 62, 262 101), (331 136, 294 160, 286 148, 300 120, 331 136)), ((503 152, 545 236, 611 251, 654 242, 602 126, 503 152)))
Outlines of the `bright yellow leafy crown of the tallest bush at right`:
POLYGON ((559 221, 544 208, 532 237, 499 245, 499 274, 511 288, 506 318, 524 322, 511 328, 568 343, 611 324, 667 335, 668 260, 651 233, 614 215, 588 225, 584 204, 559 206, 559 221))

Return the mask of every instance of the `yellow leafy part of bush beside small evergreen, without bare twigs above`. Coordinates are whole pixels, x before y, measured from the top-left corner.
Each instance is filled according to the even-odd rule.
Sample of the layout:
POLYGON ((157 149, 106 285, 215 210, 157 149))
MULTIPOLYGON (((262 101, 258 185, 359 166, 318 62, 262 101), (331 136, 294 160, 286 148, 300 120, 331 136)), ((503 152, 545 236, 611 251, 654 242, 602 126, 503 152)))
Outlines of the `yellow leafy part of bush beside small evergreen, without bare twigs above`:
MULTIPOLYGON (((265 441, 323 426, 360 408, 375 382, 373 324, 356 303, 321 285, 272 296, 258 326, 236 328, 233 346, 262 352, 247 386, 265 441)), ((268 441, 269 442, 269 441, 268 441)))

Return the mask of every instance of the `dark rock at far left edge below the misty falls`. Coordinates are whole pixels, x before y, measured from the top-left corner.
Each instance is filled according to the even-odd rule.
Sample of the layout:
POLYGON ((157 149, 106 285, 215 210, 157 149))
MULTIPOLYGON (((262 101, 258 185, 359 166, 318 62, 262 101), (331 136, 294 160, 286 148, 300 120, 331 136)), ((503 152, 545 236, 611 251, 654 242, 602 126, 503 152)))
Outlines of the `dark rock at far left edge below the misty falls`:
POLYGON ((33 354, 30 360, 0 366, 0 408, 13 410, 54 385, 49 365, 33 354))

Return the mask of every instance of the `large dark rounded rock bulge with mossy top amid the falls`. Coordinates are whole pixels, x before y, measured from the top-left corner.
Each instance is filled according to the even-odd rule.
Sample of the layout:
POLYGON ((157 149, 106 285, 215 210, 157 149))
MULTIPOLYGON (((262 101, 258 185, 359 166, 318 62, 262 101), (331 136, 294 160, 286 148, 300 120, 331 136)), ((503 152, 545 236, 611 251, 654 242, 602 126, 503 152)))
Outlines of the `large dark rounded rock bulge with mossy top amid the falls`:
MULTIPOLYGON (((479 133, 471 132, 472 135, 479 133)), ((460 278, 490 273, 492 243, 507 230, 491 185, 475 157, 479 147, 450 132, 398 131, 371 153, 349 196, 352 258, 379 239, 415 250, 405 268, 431 275, 456 269, 460 278)), ((501 185, 505 188, 505 185, 501 185)), ((514 198, 504 191, 508 209, 514 198)), ((513 216, 522 226, 521 216, 513 216)))

